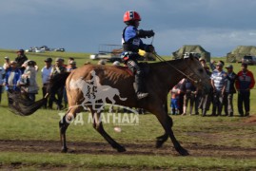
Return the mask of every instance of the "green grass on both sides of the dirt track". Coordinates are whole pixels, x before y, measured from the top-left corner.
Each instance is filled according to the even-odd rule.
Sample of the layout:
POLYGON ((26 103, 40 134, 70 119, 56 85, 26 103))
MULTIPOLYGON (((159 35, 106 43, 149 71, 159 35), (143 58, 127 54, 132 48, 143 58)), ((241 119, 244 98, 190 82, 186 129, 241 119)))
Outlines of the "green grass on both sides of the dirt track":
MULTIPOLYGON (((60 117, 56 110, 40 109, 29 117, 20 117, 10 113, 7 108, 1 108, 1 140, 19 141, 59 141, 58 122, 60 117)), ((87 121, 88 114, 85 113, 84 120, 87 121)), ((173 130, 177 139, 182 144, 198 146, 225 146, 255 149, 256 125, 243 124, 245 118, 233 117, 199 117, 199 116, 173 116, 173 130)), ((117 142, 142 143, 148 142, 154 148, 152 142, 163 133, 163 128, 153 115, 140 115, 139 125, 121 126, 122 132, 117 134, 113 131, 114 125, 106 123, 105 128, 117 142)), ((92 128, 90 123, 84 125, 73 123, 69 126, 68 144, 70 142, 105 142, 103 138, 92 128)), ((83 168, 119 168, 119 169, 256 169, 255 158, 232 158, 232 157, 179 157, 171 155, 173 148, 171 142, 165 155, 128 155, 126 153, 105 154, 62 154, 52 152, 0 152, 1 164, 6 167, 42 169, 83 169, 83 168)), ((107 145, 108 146, 108 145, 107 145)), ((20 146, 26 148, 25 146, 20 146)), ((59 146, 61 148, 61 146, 59 146)), ((75 146, 71 146, 75 148, 75 146)), ((85 149, 87 146, 85 146, 85 149)), ((107 147, 108 148, 108 147, 107 147)), ((143 146, 141 148, 144 148, 143 146)), ((147 147, 146 147, 147 148, 147 147)), ((150 147, 149 147, 150 148, 150 147)), ((109 147, 109 150, 111 148, 109 147)), ((129 148, 127 149, 129 151, 129 148)), ((216 149, 218 150, 218 149, 216 149)), ((108 150, 107 150, 108 151, 108 150)))

